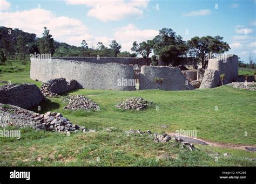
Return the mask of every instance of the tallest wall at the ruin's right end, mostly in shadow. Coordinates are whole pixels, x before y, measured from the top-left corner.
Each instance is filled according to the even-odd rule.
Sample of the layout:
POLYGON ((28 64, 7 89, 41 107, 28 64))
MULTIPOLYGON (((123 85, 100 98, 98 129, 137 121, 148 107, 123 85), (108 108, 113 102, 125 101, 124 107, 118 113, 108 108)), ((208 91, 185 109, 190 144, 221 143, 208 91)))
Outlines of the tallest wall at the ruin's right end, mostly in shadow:
POLYGON ((230 81, 237 81, 238 78, 238 56, 226 55, 224 59, 210 59, 207 69, 218 70, 219 74, 225 74, 223 84, 230 81))

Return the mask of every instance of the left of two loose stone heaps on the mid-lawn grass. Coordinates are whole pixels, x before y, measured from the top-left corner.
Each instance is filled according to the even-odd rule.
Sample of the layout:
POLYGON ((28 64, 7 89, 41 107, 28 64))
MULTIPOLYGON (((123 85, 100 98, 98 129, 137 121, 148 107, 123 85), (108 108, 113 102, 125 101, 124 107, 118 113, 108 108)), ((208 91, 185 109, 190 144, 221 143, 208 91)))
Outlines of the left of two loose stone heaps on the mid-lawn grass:
POLYGON ((63 100, 68 102, 68 105, 64 109, 78 110, 84 109, 86 111, 99 110, 99 105, 97 105, 92 100, 86 98, 84 95, 75 95, 64 97, 63 100))

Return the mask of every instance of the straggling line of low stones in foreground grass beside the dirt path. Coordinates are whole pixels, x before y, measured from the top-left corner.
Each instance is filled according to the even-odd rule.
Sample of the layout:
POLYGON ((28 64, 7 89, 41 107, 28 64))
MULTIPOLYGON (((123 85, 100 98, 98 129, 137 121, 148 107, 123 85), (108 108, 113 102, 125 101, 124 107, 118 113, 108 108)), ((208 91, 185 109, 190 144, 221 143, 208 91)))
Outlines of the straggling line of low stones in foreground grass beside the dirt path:
POLYGON ((183 147, 188 147, 188 149, 190 151, 195 150, 195 147, 192 143, 188 143, 187 141, 184 141, 180 137, 167 135, 166 133, 163 134, 163 135, 158 134, 158 133, 154 133, 154 135, 153 135, 150 130, 147 130, 147 131, 144 132, 144 131, 141 131, 140 129, 137 130, 137 131, 136 130, 129 130, 129 131, 124 131, 124 132, 126 133, 126 136, 130 136, 131 134, 138 134, 138 135, 148 134, 148 135, 150 135, 150 137, 153 136, 154 141, 156 143, 167 143, 170 140, 173 140, 173 141, 176 141, 176 142, 180 143, 181 145, 183 145, 183 147))

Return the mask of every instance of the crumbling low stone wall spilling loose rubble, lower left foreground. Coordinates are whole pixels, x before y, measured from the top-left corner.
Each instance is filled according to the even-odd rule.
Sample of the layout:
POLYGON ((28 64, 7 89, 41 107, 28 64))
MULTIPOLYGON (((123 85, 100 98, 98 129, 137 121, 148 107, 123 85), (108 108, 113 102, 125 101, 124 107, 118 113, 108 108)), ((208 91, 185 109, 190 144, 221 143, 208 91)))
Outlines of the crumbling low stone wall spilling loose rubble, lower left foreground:
POLYGON ((31 127, 36 130, 48 130, 53 132, 83 131, 92 132, 95 130, 87 130, 84 126, 72 124, 69 119, 57 112, 46 112, 38 114, 33 111, 22 109, 14 105, 0 104, 0 126, 16 126, 19 128, 31 127))

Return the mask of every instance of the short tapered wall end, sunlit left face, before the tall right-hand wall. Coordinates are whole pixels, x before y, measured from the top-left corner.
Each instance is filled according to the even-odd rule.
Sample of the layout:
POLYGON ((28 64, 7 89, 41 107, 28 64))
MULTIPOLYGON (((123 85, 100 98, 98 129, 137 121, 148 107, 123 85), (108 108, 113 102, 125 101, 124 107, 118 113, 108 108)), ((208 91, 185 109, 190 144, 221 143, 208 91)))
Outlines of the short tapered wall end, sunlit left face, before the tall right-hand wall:
POLYGON ((206 69, 204 78, 201 82, 200 89, 215 88, 220 83, 220 76, 218 70, 206 69))

